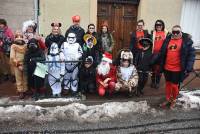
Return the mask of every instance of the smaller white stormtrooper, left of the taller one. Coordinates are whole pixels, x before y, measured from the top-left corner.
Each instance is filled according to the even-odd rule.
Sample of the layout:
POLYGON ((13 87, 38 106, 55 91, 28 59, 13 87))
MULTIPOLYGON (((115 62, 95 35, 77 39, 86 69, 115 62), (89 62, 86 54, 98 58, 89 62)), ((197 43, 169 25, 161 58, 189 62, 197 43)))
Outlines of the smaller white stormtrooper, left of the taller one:
POLYGON ((52 89, 53 96, 61 94, 61 66, 62 64, 59 62, 53 62, 53 61, 60 61, 60 55, 59 55, 59 47, 57 43, 52 43, 49 55, 47 56, 47 61, 52 61, 52 63, 48 64, 48 81, 49 85, 52 89))

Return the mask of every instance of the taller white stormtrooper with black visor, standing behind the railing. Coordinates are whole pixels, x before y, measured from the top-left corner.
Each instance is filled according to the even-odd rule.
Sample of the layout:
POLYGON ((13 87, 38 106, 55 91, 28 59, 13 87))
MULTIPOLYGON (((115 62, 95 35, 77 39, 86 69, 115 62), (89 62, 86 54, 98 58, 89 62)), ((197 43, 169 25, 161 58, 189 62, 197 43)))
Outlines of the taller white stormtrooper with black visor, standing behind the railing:
MULTIPOLYGON (((79 43, 76 43, 76 35, 69 33, 67 41, 61 45, 61 60, 62 61, 77 61, 82 57, 83 51, 79 43)), ((78 89, 78 63, 65 63, 65 69, 62 69, 64 75, 64 90, 71 89, 72 94, 78 89)))

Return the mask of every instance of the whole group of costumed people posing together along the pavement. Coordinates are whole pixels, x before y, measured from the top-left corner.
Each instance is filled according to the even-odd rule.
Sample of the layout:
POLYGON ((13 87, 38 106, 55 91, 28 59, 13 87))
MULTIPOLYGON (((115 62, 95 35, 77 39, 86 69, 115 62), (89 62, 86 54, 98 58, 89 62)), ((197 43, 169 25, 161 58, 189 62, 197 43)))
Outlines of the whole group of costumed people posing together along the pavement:
POLYGON ((22 33, 16 32, 10 61, 20 98, 30 89, 37 99, 45 90, 44 83, 48 83, 54 97, 95 91, 100 96, 112 96, 119 91, 140 96, 149 73, 151 87, 158 89, 164 72, 166 101, 161 106, 175 106, 179 85, 192 71, 195 59, 191 36, 183 33, 179 25, 169 33, 164 22, 157 20, 149 34, 144 30, 144 21, 139 20, 130 48, 120 50, 113 60, 114 40, 107 22, 97 34, 94 24, 89 24, 85 33, 80 27, 80 16, 73 16, 72 21, 65 37, 61 34, 62 24, 52 23, 52 32, 45 41, 37 35, 37 24, 31 20, 24 22, 22 33), (47 77, 34 74, 38 62, 48 66, 47 77))

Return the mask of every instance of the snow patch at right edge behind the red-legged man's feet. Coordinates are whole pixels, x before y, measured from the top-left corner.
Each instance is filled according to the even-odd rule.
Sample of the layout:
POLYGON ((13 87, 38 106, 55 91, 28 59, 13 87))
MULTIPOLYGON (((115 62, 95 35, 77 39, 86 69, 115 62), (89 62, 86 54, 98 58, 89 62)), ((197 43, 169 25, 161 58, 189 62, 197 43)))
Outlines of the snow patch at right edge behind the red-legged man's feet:
POLYGON ((177 104, 185 109, 200 109, 200 90, 180 91, 177 104))

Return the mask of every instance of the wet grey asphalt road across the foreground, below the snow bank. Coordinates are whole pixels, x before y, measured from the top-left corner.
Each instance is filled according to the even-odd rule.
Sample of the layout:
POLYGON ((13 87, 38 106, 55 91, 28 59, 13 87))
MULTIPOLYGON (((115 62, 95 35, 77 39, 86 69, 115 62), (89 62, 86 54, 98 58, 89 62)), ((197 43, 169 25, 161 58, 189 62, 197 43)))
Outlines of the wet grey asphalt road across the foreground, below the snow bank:
POLYGON ((98 134, 200 134, 200 111, 176 108, 152 109, 101 122, 59 119, 53 122, 31 120, 0 121, 1 133, 98 133, 98 134))

